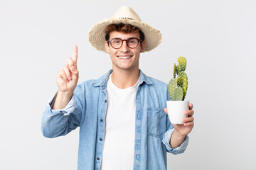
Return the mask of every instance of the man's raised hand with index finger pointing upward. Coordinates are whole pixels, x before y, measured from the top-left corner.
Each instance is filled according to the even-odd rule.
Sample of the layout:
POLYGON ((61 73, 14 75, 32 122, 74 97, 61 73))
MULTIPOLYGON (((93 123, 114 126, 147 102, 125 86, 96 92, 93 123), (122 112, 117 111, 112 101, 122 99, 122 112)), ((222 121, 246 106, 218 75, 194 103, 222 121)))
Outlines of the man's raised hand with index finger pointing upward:
POLYGON ((68 58, 67 64, 57 74, 58 93, 63 93, 71 96, 78 84, 78 47, 73 48, 73 57, 68 58))

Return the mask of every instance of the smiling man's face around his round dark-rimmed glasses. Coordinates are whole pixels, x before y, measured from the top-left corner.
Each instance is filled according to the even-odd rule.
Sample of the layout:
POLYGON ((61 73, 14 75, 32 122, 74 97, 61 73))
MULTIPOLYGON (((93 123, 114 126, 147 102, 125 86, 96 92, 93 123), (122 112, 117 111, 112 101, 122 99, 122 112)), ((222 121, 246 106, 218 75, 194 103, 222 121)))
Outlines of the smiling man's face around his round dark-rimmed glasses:
MULTIPOLYGON (((110 33, 110 40, 112 38, 121 38, 122 40, 127 40, 128 38, 140 39, 139 33, 122 33, 117 31, 110 33)), ((144 52, 145 45, 145 42, 142 42, 142 45, 139 42, 139 45, 132 49, 127 46, 126 41, 123 41, 122 47, 114 49, 105 42, 105 50, 110 54, 113 69, 132 70, 139 69, 139 54, 144 52)))

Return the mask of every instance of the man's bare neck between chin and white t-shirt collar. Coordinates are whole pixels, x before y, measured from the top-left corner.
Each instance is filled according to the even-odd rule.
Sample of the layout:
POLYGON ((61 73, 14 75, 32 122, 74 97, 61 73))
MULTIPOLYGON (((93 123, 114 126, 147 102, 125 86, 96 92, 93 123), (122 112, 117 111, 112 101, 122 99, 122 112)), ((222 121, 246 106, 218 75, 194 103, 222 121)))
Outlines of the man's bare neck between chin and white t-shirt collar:
POLYGON ((139 68, 131 70, 116 70, 113 68, 112 82, 119 89, 134 86, 139 79, 139 68))

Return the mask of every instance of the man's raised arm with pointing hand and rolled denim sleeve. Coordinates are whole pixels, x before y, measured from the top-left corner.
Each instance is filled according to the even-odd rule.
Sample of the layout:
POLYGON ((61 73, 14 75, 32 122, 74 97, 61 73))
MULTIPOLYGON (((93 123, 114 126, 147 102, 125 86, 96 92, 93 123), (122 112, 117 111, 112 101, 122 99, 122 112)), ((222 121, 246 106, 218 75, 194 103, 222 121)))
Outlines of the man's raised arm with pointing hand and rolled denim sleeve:
POLYGON ((75 46, 73 58, 69 58, 57 74, 58 93, 43 113, 41 126, 45 137, 65 135, 80 124, 82 105, 79 101, 82 93, 79 87, 75 88, 78 83, 77 59, 78 48, 75 46))

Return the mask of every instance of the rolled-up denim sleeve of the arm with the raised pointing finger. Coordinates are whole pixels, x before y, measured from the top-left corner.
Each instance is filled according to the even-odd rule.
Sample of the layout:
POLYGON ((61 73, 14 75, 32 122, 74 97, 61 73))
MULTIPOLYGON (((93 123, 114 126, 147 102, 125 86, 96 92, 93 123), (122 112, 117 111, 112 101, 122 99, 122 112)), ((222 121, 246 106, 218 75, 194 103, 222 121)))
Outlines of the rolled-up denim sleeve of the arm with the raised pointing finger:
POLYGON ((63 109, 52 109, 56 94, 46 103, 43 112, 41 131, 44 137, 52 138, 67 135, 80 126, 82 103, 84 103, 82 102, 84 96, 82 96, 80 86, 75 88, 72 98, 63 109))

